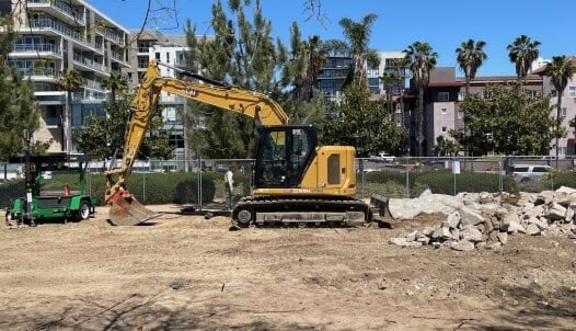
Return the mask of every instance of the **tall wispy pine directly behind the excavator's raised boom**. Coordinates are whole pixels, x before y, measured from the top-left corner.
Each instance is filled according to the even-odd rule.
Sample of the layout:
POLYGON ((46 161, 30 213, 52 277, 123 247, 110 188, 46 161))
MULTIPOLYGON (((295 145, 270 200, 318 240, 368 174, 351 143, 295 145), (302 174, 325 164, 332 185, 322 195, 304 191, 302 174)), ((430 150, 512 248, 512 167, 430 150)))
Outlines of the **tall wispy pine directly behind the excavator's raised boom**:
MULTIPOLYGON (((261 1, 221 1, 212 4, 214 38, 197 37, 187 22, 188 66, 203 76, 245 90, 267 94, 280 103, 291 121, 314 121, 322 115, 319 99, 310 99, 310 80, 318 75, 322 43, 318 38, 302 42, 292 25, 291 49, 270 37, 272 22, 262 14, 261 1), (246 15, 252 9, 252 18, 246 15), (228 13, 231 13, 229 16, 228 13), (291 65, 289 65, 291 64, 291 65), (288 66, 291 66, 287 68, 288 66), (280 73, 280 75, 278 75, 280 73), (291 93, 298 88, 298 94, 291 93), (295 100, 295 95, 299 95, 295 100)), ((320 98, 320 96, 318 96, 320 98)), ((255 151, 253 118, 214 106, 188 102, 185 122, 191 147, 205 158, 252 158, 255 151)))

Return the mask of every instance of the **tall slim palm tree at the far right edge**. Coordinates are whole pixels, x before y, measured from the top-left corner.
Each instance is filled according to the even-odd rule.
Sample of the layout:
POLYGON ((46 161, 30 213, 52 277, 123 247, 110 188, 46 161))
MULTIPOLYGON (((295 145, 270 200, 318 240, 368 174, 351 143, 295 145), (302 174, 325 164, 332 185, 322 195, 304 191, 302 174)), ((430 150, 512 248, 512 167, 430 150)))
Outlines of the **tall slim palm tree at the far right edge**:
MULTIPOLYGON (((566 56, 553 56, 552 61, 546 65, 545 75, 550 77, 556 90, 556 130, 560 130, 560 112, 562 110, 562 95, 568 84, 568 80, 576 72, 576 67, 566 56)), ((556 133, 556 166, 558 160, 558 136, 556 133)))

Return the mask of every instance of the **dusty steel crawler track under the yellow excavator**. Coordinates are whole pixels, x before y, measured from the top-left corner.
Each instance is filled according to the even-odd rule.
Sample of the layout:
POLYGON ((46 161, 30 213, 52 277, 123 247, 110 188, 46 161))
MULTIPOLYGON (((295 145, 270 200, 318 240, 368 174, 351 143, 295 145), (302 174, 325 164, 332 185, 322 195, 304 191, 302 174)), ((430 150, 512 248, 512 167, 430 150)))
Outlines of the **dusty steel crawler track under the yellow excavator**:
POLYGON ((368 225, 372 210, 362 201, 346 196, 246 196, 232 210, 232 224, 251 226, 330 226, 368 225))

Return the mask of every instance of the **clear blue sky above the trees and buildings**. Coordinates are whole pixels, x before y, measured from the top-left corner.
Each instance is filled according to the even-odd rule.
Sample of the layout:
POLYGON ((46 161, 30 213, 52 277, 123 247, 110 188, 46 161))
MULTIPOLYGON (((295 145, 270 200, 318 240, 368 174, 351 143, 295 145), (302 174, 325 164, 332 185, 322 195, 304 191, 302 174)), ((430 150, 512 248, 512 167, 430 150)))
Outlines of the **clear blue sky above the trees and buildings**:
MULTIPOLYGON (((152 0, 152 5, 173 0, 152 0)), ((522 34, 541 42, 540 55, 576 55, 575 0, 320 0, 322 16, 310 18, 306 0, 262 0, 264 16, 272 20, 273 37, 288 43, 291 22, 300 25, 304 37, 343 38, 338 21, 360 21, 368 13, 378 15, 370 47, 377 50, 403 50, 412 43, 427 42, 438 53, 437 66, 457 66, 456 48, 469 38, 486 42, 488 59, 479 76, 515 75, 506 46, 522 34)), ((127 28, 139 28, 147 0, 89 0, 100 12, 127 28)), ((210 0, 175 0, 177 23, 165 11, 147 27, 163 34, 182 34, 189 19, 200 34, 212 34, 210 0), (155 25, 155 26, 154 26, 155 25)), ((253 3, 255 1, 252 1, 253 3)), ((222 0, 226 8, 228 1, 222 0)), ((460 70, 458 76, 462 76, 460 70)))

